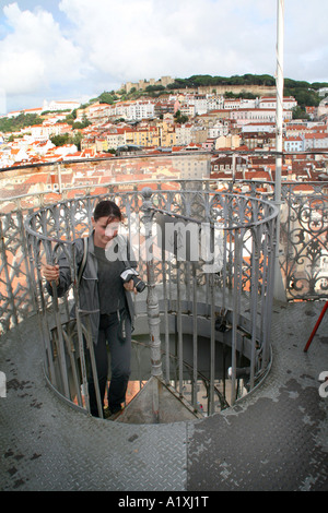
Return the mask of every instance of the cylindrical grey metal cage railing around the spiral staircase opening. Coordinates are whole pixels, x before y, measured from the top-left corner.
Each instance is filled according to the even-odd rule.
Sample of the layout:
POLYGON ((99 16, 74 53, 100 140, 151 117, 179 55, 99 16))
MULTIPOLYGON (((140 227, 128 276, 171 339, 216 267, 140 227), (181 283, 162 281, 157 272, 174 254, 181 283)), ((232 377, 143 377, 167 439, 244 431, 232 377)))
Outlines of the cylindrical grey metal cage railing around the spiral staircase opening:
MULTIPOLYGON (((194 190, 144 189, 106 198, 126 215, 126 235, 148 284, 147 300, 138 297, 136 302, 136 337, 149 336, 150 374, 174 384, 180 397, 190 389, 195 411, 200 382, 208 393, 207 414, 215 411, 218 402, 220 408, 233 404, 241 395, 238 362, 248 362, 243 374, 248 391, 270 365, 277 207, 256 198, 194 190), (226 358, 224 349, 231 367, 227 382, 227 367, 218 365, 222 347, 231 351, 226 358)), ((75 279, 65 299, 56 294, 49 299, 40 266, 63 251, 77 276, 74 240, 89 231, 98 199, 60 202, 34 212, 25 223, 46 374, 61 395, 86 409, 85 347, 96 372, 87 313, 79 311, 75 279), (71 302, 77 305, 74 320, 69 317, 71 302)))

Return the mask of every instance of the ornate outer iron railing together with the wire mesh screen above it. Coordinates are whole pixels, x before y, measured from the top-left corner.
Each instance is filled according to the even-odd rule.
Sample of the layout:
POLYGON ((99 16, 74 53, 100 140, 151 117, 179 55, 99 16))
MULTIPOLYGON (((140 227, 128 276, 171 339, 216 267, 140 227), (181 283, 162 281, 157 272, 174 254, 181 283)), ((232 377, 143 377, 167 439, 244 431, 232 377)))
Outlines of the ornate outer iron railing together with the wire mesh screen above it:
MULTIPOLYGON (((325 158, 325 155, 319 157, 325 158)), ((163 188, 177 192, 190 189, 192 183, 194 190, 199 191, 199 198, 202 191, 220 190, 273 200, 273 182, 234 180, 233 177, 230 180, 203 178, 209 176, 210 163, 211 155, 204 153, 102 158, 2 170, 0 331, 7 331, 34 308, 26 275, 26 247, 22 231, 23 218, 31 211, 84 195, 140 191, 145 184, 157 190, 163 188), (168 179, 171 175, 181 178, 168 179), (153 179, 153 176, 160 177, 160 180, 153 179)), ((281 201, 280 269, 286 299, 327 298, 327 181, 283 181, 281 201)))

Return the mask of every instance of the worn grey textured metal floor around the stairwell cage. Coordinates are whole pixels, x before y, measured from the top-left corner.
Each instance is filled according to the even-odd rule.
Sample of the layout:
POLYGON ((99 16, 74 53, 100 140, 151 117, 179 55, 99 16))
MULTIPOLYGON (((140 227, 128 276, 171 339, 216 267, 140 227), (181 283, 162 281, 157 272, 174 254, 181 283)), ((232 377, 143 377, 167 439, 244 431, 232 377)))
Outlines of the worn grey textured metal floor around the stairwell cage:
POLYGON ((0 489, 327 491, 328 315, 303 351, 323 306, 276 302, 266 381, 221 414, 163 425, 71 408, 46 386, 37 321, 25 321, 0 344, 0 489))

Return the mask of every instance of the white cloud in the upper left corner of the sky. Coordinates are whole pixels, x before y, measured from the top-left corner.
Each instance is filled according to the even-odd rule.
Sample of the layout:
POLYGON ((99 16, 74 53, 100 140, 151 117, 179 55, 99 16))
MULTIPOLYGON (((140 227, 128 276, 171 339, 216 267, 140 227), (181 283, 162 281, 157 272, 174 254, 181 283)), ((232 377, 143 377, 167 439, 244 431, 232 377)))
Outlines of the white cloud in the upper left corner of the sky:
POLYGON ((81 77, 81 50, 61 34, 52 14, 43 9, 3 8, 11 27, 1 41, 0 75, 7 95, 42 91, 51 83, 81 77))

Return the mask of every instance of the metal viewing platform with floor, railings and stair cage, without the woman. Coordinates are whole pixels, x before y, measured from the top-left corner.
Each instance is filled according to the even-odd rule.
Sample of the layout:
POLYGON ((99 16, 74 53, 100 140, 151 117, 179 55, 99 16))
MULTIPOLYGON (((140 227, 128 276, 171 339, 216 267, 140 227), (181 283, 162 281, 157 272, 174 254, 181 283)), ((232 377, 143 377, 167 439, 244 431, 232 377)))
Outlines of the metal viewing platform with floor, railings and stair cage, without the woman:
POLYGON ((171 186, 3 202, 2 490, 328 489, 327 319, 304 351, 327 297, 325 183, 307 195, 282 187, 289 302, 273 298, 268 184, 265 194, 259 183, 242 194, 235 182, 220 192, 211 181, 171 186), (75 272, 73 242, 99 198, 119 203, 145 248, 131 374, 140 391, 116 421, 87 413, 79 338, 87 323, 68 317, 77 284, 51 299, 40 275, 43 259, 62 250, 75 272), (201 242, 207 251, 194 258, 201 242))

